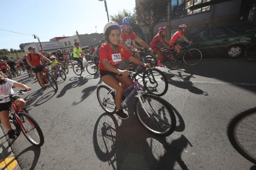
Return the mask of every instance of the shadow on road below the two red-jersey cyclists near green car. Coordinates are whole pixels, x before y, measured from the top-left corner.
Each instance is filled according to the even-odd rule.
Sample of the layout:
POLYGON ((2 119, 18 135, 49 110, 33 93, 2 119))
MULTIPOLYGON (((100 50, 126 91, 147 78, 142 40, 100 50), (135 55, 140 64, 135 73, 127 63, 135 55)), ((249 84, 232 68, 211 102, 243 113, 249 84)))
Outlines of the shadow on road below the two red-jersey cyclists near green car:
POLYGON ((194 84, 190 81, 190 78, 195 78, 193 76, 193 74, 190 75, 182 75, 181 71, 177 72, 178 74, 174 74, 171 72, 171 70, 168 71, 168 73, 172 78, 177 78, 178 80, 174 80, 172 78, 168 79, 168 83, 170 85, 174 85, 178 88, 182 88, 182 89, 188 89, 189 92, 192 92, 194 94, 202 94, 205 96, 208 96, 208 93, 195 87, 194 84))

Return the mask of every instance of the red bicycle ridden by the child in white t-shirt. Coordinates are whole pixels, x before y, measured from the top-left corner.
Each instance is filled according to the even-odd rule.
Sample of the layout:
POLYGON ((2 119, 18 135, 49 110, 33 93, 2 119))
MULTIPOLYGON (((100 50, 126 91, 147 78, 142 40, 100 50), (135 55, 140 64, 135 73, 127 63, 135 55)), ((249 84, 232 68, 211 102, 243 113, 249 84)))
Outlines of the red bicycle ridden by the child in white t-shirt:
POLYGON ((12 105, 9 109, 9 118, 17 130, 17 137, 20 135, 20 132, 22 132, 31 144, 40 147, 44 144, 44 135, 41 128, 35 119, 28 114, 28 111, 26 109, 21 110, 12 98, 16 94, 25 94, 26 92, 27 90, 24 89, 19 90, 14 94, 0 96, 0 101, 7 98, 10 98, 11 100, 12 105))

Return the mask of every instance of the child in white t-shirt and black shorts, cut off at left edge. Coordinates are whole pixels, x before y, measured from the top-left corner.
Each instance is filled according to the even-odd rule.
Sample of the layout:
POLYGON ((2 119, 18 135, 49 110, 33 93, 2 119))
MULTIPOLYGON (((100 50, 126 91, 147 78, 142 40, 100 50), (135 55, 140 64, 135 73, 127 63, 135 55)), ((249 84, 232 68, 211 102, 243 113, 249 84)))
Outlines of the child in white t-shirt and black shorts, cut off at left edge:
MULTIPOLYGON (((21 89, 27 89, 27 91, 30 91, 31 88, 23 85, 21 83, 18 83, 14 80, 11 80, 9 78, 3 78, 0 74, 0 96, 10 95, 13 94, 14 91, 12 90, 12 86, 19 87, 21 89)), ((26 102, 19 98, 19 96, 13 96, 13 99, 15 100, 15 103, 17 106, 20 107, 20 109, 24 109, 26 102)), ((9 120, 9 107, 11 106, 10 98, 6 98, 2 101, 0 101, 0 119, 6 130, 8 131, 8 137, 10 139, 13 139, 16 137, 15 131, 11 128, 10 120, 9 120)))

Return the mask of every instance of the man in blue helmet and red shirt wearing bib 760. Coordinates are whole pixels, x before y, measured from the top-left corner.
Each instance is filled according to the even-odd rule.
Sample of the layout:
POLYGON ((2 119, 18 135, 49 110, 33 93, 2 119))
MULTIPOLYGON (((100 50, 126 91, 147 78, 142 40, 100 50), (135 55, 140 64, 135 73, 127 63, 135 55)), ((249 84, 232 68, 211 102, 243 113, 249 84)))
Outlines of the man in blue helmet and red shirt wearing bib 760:
MULTIPOLYGON (((130 46, 133 45, 132 40, 136 41, 139 43, 142 47, 147 48, 150 50, 151 53, 153 53, 152 48, 149 48, 149 46, 140 38, 137 37, 137 35, 132 31, 132 24, 133 20, 131 17, 125 17, 123 19, 123 29, 121 30, 120 34, 120 44, 133 56, 139 58, 140 53, 137 51, 132 51, 130 49, 130 46)), ((122 63, 120 64, 120 68, 122 70, 130 70, 129 69, 129 61, 127 60, 122 60, 122 63)))

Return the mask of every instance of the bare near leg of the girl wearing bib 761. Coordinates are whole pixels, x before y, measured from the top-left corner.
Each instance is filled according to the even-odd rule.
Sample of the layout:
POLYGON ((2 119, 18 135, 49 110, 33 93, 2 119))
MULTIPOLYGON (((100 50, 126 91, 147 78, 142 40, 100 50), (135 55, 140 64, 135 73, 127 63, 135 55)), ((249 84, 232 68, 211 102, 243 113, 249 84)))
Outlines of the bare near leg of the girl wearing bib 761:
POLYGON ((119 82, 116 80, 116 78, 114 78, 114 76, 110 74, 102 76, 101 80, 106 85, 116 90, 116 97, 115 97, 116 109, 117 110, 121 109, 121 100, 122 100, 123 90, 124 90, 123 87, 119 85, 119 82))

